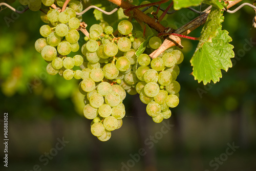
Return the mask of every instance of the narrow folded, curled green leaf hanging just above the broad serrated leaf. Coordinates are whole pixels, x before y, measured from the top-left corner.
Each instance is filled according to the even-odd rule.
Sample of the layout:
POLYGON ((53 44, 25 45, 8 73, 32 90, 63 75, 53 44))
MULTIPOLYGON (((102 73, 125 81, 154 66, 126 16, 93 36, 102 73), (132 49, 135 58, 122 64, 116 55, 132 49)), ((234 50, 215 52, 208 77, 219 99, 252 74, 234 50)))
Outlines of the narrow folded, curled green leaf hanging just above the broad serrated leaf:
POLYGON ((223 12, 217 8, 212 8, 206 23, 201 31, 200 40, 197 46, 196 51, 201 48, 205 42, 211 42, 211 39, 214 38, 217 34, 217 29, 220 27, 223 22, 223 12))

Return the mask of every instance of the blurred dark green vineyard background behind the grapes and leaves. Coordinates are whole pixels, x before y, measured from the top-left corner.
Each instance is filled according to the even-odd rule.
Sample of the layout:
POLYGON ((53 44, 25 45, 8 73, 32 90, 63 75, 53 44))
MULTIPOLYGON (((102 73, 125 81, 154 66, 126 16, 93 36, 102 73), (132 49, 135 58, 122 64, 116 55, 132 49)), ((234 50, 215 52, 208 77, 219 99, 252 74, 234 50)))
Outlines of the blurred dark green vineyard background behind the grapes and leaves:
MULTIPOLYGON (((18 2, 12 5, 20 6, 18 2)), ((106 7, 107 11, 115 8, 107 1, 92 0, 85 4, 90 5, 106 7)), ((90 121, 82 116, 79 81, 48 75, 47 63, 34 49, 34 42, 41 37, 39 28, 44 25, 40 12, 28 10, 16 14, 3 8, 0 12, 0 127, 4 139, 3 115, 8 112, 9 167, 2 163, 1 170, 33 170, 35 165, 49 171, 256 170, 253 9, 244 7, 234 14, 224 12, 223 29, 233 39, 236 58, 232 59, 233 67, 223 71, 223 78, 216 84, 204 86, 194 80, 189 60, 197 41, 182 40, 185 58, 177 78, 181 84, 180 104, 172 110, 172 117, 164 120, 165 124, 173 125, 170 130, 163 132, 165 124, 157 124, 147 116, 138 95, 127 95, 124 100, 127 117, 121 129, 112 132, 108 142, 100 142, 90 132, 90 121), (66 146, 50 156, 47 164, 46 160, 42 162, 41 155, 56 152, 55 145, 62 137, 69 141, 66 146), (239 148, 226 155, 228 144, 239 148), (138 158, 140 148, 146 154, 138 158)), ((83 15, 88 27, 100 22, 92 17, 93 11, 83 15)), ((180 27, 197 16, 182 9, 166 16, 164 22, 180 27)), ((116 21, 120 12, 103 17, 116 21)), ((201 29, 189 35, 199 37, 201 29)), ((82 39, 81 36, 81 44, 82 39)), ((4 154, 2 148, 1 154, 4 154)))

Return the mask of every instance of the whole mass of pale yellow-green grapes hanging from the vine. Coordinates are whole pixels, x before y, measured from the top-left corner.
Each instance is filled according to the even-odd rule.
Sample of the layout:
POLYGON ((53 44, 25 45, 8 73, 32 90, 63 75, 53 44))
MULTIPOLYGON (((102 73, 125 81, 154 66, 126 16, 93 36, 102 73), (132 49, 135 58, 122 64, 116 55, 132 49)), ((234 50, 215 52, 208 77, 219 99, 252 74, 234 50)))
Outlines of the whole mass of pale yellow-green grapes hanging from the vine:
MULTIPOLYGON (((53 3, 40 2, 48 6, 53 3)), ((64 2, 56 4, 61 7, 64 2)), ((36 40, 35 49, 48 62, 50 75, 82 80, 78 88, 84 95, 84 117, 92 120, 92 134, 100 141, 108 141, 111 132, 122 126, 125 116, 122 101, 126 92, 140 94, 141 101, 147 104, 147 114, 155 122, 169 118, 169 108, 179 103, 177 65, 182 62, 183 54, 171 48, 151 59, 146 53, 158 49, 162 43, 159 37, 153 36, 146 53, 137 56, 136 51, 146 38, 142 31, 134 31, 128 20, 122 20, 115 33, 106 22, 92 25, 89 37, 84 37, 85 43, 80 48, 77 30, 81 18, 76 12, 81 10, 80 2, 70 1, 62 12, 50 9, 47 15, 42 13, 41 19, 48 25, 41 26, 39 31, 44 38, 36 40), (71 57, 71 52, 77 54, 71 57), (80 68, 76 70, 76 67, 80 68)))

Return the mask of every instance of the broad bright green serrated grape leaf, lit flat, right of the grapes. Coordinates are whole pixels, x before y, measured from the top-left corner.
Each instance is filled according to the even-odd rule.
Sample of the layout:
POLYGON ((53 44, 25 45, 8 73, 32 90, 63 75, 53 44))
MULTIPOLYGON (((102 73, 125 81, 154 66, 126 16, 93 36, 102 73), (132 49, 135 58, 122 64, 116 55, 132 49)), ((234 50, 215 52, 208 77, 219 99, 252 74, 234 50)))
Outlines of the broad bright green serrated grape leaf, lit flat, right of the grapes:
POLYGON ((211 42, 205 42, 191 58, 193 75, 198 82, 207 84, 211 80, 216 83, 222 77, 221 69, 227 71, 232 67, 234 57, 233 46, 228 44, 232 38, 226 30, 217 29, 218 33, 211 42))

